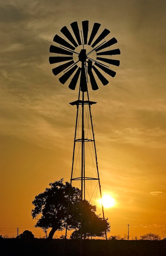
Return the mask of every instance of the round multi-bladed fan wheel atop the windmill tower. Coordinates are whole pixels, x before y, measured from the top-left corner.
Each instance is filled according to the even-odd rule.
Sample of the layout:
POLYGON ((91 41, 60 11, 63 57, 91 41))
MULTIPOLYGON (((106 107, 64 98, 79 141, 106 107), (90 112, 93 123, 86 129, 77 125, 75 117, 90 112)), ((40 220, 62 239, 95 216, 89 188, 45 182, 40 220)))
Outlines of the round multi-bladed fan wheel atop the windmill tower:
POLYGON ((98 34, 99 23, 94 23, 92 31, 89 31, 88 20, 82 21, 82 30, 79 30, 76 21, 72 22, 70 26, 72 33, 66 26, 61 29, 65 39, 55 35, 53 41, 60 46, 50 46, 50 52, 57 55, 49 58, 50 64, 59 63, 52 69, 53 74, 56 76, 63 72, 59 81, 64 84, 70 79, 69 88, 71 90, 75 90, 78 81, 82 92, 87 91, 88 82, 91 83, 92 90, 97 90, 97 79, 103 85, 107 85, 109 81, 104 74, 114 77, 116 72, 111 70, 110 66, 120 65, 120 61, 111 58, 112 55, 120 54, 120 49, 110 49, 117 43, 116 38, 105 40, 110 33, 108 29, 104 29, 98 34), (101 73, 101 70, 104 74, 101 73))

